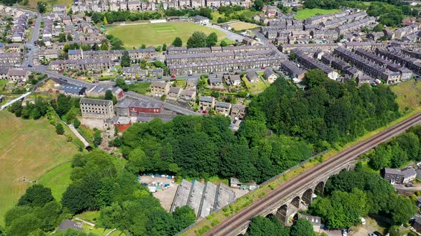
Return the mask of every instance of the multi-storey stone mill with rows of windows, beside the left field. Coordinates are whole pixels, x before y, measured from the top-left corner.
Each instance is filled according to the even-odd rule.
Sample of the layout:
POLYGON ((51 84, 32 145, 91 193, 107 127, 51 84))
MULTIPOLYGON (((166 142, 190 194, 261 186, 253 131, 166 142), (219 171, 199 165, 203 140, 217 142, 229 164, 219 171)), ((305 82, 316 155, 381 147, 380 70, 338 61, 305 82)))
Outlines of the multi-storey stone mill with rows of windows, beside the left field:
POLYGON ((113 101, 81 98, 82 117, 109 119, 114 117, 113 101))

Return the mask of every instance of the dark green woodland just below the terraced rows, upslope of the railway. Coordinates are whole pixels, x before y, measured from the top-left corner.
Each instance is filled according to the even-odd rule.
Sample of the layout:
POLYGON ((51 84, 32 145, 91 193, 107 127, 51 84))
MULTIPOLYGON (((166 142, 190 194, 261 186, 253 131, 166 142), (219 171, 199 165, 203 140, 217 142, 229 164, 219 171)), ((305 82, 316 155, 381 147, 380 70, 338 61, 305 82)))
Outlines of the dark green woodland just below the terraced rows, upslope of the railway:
POLYGON ((316 151, 345 144, 400 116, 395 94, 385 85, 357 87, 355 82, 329 80, 309 70, 308 90, 283 79, 252 100, 248 121, 265 123, 277 134, 297 136, 316 151))

